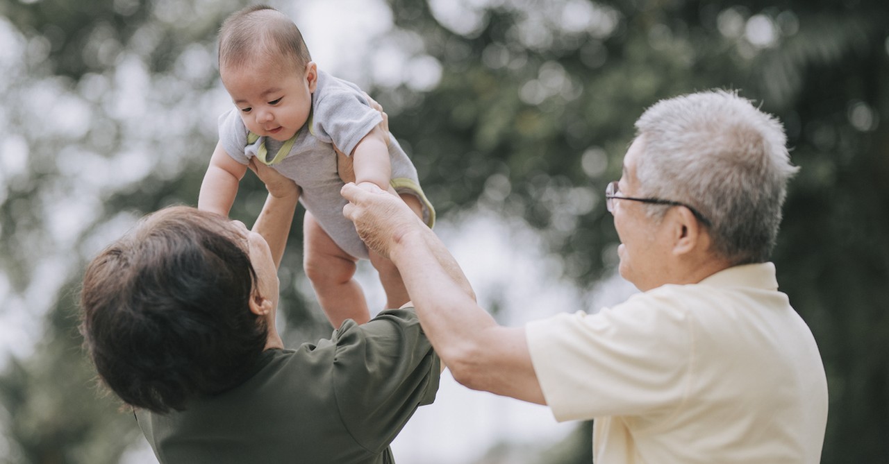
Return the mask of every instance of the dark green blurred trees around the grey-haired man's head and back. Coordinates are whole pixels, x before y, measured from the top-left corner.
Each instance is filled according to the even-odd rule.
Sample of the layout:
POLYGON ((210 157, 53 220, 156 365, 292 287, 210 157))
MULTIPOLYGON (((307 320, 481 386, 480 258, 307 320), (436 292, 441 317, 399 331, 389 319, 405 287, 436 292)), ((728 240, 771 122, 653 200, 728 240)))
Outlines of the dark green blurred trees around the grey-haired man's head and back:
POLYGON ((613 269, 600 192, 645 106, 719 87, 778 115, 802 170, 774 260, 829 375, 823 462, 889 460, 889 4, 390 3, 443 69, 381 98, 434 201, 524 216, 581 286, 613 269))

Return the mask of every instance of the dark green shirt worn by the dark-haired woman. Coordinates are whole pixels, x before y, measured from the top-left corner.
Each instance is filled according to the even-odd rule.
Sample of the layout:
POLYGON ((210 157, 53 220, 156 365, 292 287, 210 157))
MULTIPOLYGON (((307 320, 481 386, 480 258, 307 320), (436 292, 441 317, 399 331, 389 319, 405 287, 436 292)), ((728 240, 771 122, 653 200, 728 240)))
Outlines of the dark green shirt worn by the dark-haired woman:
POLYGON ((183 412, 136 416, 163 463, 392 463, 389 444, 435 400, 439 362, 412 309, 382 311, 265 351, 250 379, 183 412))

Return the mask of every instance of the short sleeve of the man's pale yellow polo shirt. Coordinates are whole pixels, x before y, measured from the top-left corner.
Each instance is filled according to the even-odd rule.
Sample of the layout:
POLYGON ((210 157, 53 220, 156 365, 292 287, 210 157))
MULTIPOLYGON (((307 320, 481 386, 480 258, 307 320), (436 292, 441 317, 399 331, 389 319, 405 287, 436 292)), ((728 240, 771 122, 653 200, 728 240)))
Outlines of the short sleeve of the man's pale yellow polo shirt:
POLYGON ((652 295, 596 314, 534 321, 526 338, 557 421, 669 414, 687 396, 693 331, 685 311, 652 295))

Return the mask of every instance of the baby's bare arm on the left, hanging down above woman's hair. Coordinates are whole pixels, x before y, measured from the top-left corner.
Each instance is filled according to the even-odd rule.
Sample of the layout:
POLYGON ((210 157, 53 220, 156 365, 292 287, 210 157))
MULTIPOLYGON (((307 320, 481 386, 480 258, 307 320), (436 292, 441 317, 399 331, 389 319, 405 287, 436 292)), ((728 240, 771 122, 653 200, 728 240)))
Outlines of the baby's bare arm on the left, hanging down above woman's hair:
POLYGON ((228 156, 222 144, 216 145, 210 158, 210 167, 204 174, 201 192, 197 196, 197 208, 222 216, 228 216, 228 210, 235 202, 237 184, 247 172, 247 166, 228 156))

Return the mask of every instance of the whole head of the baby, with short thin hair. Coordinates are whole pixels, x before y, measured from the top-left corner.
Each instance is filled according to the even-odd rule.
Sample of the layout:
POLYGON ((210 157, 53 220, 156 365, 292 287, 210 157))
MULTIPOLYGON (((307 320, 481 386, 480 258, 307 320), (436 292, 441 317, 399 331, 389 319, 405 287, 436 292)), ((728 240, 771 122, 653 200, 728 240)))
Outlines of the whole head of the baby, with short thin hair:
POLYGON ((247 130, 285 141, 308 121, 318 75, 300 29, 268 6, 245 8, 220 30, 220 77, 247 130))

